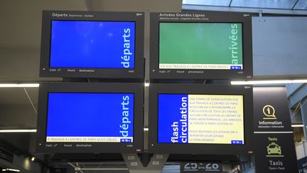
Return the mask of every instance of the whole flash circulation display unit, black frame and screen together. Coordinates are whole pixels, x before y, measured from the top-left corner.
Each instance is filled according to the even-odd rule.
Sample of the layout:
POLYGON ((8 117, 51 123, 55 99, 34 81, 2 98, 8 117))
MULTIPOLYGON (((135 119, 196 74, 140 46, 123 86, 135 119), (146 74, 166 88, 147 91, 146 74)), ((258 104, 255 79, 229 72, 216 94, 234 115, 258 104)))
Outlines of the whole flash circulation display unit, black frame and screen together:
POLYGON ((149 152, 252 154, 252 86, 151 84, 149 152))

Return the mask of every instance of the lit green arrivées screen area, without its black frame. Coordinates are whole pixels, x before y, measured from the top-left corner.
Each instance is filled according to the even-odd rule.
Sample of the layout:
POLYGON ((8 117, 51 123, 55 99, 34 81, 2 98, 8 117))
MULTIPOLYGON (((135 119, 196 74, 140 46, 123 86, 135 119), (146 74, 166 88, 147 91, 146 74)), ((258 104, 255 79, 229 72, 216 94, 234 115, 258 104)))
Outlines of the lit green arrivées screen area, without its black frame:
POLYGON ((242 70, 242 23, 159 23, 159 68, 242 70))

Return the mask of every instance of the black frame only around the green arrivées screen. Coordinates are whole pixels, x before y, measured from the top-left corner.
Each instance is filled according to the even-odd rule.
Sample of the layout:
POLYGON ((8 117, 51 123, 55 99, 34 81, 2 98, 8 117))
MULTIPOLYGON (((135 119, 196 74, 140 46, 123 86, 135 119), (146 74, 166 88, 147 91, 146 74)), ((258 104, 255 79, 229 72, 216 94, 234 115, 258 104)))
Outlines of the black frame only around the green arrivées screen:
POLYGON ((151 13, 150 78, 151 79, 251 79, 252 69, 252 17, 250 14, 182 12, 151 13), (178 17, 190 15, 190 17, 178 17), (196 15, 203 15, 196 17, 196 15), (161 17, 162 16, 162 17, 161 17), (242 70, 227 69, 160 69, 159 23, 242 23, 242 70))

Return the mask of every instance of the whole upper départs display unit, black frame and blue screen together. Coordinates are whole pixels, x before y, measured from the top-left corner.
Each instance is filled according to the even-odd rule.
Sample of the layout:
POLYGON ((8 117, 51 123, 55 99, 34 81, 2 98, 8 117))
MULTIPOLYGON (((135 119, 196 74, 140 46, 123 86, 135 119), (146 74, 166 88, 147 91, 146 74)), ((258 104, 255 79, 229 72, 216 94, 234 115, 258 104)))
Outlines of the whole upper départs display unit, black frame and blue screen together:
POLYGON ((43 11, 41 77, 144 78, 144 13, 43 11))

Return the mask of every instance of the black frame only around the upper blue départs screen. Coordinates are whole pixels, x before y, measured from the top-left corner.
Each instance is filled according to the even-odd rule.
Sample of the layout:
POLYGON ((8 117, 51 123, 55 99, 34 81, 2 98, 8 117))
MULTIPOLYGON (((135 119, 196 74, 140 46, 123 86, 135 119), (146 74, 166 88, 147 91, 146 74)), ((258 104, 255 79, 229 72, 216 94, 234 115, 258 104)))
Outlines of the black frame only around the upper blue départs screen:
POLYGON ((144 78, 144 13, 98 11, 43 11, 40 77, 144 78), (52 21, 119 21, 135 23, 134 68, 50 67, 52 21))

